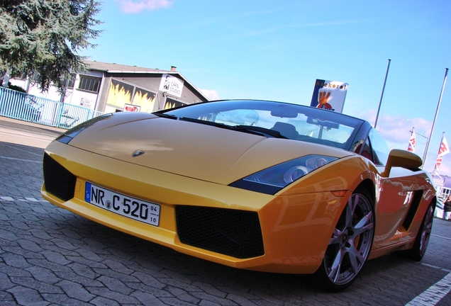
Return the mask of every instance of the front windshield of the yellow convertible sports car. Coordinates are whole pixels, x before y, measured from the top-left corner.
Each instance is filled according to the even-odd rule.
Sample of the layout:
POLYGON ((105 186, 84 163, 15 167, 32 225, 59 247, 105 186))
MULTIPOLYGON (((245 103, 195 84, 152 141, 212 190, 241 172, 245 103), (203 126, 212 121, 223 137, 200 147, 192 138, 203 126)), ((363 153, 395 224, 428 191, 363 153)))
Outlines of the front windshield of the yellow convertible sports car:
POLYGON ((363 121, 319 108, 272 101, 212 101, 155 115, 349 149, 363 121))

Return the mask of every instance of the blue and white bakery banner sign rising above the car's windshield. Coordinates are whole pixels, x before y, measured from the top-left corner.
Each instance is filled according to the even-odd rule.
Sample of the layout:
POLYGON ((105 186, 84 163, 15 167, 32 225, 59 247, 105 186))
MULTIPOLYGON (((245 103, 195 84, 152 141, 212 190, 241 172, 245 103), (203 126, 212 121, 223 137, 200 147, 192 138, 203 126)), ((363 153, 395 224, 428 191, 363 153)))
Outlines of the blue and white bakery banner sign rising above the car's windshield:
POLYGON ((347 83, 316 79, 310 106, 343 113, 347 83))

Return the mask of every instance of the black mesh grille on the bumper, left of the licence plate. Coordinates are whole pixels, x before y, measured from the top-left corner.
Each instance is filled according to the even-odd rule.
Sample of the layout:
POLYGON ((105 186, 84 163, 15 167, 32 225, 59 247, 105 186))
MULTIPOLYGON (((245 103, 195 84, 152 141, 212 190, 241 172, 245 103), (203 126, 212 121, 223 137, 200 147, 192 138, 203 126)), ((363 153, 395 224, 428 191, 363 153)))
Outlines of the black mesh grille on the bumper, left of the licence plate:
POLYGON ((43 161, 45 191, 61 200, 74 198, 77 178, 48 154, 43 161))

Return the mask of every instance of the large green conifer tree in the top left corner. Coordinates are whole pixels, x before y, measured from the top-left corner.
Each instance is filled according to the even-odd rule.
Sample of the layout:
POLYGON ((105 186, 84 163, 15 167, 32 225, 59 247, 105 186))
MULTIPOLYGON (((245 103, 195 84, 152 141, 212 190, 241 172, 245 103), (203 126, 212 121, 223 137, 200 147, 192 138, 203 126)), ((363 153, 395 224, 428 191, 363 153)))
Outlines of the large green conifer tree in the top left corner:
POLYGON ((64 89, 70 72, 86 68, 82 49, 99 36, 94 0, 0 0, 0 71, 11 77, 38 73, 36 84, 64 89))

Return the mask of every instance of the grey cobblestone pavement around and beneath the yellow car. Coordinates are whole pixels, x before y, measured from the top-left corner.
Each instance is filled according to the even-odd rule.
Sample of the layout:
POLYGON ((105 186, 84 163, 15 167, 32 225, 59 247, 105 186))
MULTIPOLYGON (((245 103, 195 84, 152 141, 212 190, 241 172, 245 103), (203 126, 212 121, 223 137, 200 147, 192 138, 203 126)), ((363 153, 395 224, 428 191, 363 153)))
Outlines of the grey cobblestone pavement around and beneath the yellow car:
POLYGON ((340 293, 179 254, 40 198, 42 147, 60 132, 0 118, 0 305, 406 305, 451 271, 451 223, 438 219, 421 263, 368 261, 340 293))

